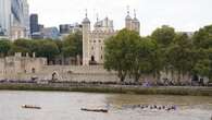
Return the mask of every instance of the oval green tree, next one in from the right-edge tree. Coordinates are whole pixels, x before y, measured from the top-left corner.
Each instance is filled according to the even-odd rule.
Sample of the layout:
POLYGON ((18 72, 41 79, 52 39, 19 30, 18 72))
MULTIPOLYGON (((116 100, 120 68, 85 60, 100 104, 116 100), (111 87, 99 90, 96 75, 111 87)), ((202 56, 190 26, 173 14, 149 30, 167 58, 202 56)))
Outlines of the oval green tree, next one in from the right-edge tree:
POLYGON ((195 65, 195 52, 191 40, 186 34, 177 34, 173 45, 167 49, 166 56, 169 65, 178 73, 178 81, 182 75, 191 74, 195 65))

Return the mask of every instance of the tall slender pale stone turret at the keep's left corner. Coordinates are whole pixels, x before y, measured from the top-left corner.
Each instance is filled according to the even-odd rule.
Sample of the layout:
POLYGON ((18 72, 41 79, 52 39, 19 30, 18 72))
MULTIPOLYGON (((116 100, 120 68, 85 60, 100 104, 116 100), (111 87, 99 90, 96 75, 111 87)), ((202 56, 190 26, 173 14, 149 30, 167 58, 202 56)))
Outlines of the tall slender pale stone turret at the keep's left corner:
POLYGON ((83 21, 83 65, 89 65, 89 33, 90 33, 90 21, 87 16, 83 21))

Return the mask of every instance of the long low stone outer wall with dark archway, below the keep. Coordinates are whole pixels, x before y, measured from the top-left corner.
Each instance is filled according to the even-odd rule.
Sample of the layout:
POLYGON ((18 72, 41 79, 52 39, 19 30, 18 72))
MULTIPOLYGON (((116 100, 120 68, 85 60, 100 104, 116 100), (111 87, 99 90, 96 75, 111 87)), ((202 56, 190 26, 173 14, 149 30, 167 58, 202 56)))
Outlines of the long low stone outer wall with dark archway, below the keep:
POLYGON ((5 74, 3 80, 24 80, 30 81, 33 77, 38 80, 52 80, 72 82, 116 82, 119 77, 113 72, 107 72, 103 67, 79 67, 79 65, 43 65, 42 70, 35 73, 5 74))

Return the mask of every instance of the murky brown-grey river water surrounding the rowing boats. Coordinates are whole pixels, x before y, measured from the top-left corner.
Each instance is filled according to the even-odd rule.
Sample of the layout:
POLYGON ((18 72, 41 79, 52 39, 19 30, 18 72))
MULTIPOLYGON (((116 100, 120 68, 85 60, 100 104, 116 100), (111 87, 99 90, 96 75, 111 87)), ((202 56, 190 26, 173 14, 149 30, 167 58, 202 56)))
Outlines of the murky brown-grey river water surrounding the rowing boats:
POLYGON ((212 97, 0 91, 0 120, 211 120, 212 97), (37 105, 42 109, 23 109, 37 105), (176 110, 127 108, 175 105, 176 110), (80 108, 109 108, 109 113, 80 108))

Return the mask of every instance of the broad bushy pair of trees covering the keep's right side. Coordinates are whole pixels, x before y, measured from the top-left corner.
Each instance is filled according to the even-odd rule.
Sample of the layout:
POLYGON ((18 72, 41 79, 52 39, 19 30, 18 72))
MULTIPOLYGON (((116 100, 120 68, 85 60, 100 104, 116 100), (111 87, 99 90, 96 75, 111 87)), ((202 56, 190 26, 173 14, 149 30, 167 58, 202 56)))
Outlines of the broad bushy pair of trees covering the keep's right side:
POLYGON ((117 71, 121 81, 129 75, 137 82, 142 74, 155 73, 159 69, 157 50, 157 43, 150 38, 122 29, 105 43, 104 68, 117 71))

